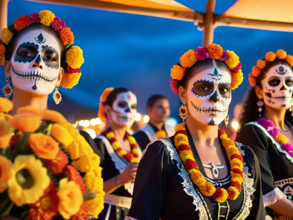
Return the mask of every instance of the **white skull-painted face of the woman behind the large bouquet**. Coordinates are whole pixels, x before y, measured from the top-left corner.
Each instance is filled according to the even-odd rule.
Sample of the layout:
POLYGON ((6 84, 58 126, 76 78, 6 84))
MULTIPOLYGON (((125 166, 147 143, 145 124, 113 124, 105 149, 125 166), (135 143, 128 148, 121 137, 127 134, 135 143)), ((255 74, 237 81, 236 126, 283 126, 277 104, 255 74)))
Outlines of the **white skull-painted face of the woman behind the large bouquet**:
POLYGON ((36 95, 50 94, 59 76, 61 52, 57 38, 44 29, 21 35, 11 57, 13 87, 36 95))

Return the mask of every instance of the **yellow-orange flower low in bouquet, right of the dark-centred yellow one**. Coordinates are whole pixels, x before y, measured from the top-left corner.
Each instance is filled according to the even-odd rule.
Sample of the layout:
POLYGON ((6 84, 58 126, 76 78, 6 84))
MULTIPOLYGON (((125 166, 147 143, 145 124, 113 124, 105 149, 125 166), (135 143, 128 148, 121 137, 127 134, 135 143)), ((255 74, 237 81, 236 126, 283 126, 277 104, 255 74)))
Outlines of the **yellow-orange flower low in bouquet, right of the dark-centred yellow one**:
POLYGON ((58 212, 64 219, 75 215, 84 202, 79 185, 74 181, 68 181, 67 178, 60 180, 57 196, 58 212))

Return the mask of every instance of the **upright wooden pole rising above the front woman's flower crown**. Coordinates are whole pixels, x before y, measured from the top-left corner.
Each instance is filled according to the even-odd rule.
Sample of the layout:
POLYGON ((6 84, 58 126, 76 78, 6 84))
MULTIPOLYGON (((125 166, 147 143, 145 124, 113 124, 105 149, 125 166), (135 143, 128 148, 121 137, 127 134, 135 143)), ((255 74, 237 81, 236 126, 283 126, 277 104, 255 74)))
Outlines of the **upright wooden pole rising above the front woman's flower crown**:
POLYGON ((202 46, 205 47, 213 43, 214 38, 214 11, 216 0, 208 0, 207 7, 205 9, 205 19, 203 22, 204 31, 202 38, 202 46))

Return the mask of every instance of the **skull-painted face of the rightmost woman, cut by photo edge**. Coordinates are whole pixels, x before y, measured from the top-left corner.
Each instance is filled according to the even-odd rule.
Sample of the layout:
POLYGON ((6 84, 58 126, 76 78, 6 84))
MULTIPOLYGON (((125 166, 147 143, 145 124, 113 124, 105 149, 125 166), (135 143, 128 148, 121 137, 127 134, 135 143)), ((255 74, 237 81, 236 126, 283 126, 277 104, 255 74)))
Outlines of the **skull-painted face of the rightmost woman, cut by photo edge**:
POLYGON ((274 109, 289 109, 292 106, 293 72, 287 65, 275 65, 261 82, 266 105, 274 109))

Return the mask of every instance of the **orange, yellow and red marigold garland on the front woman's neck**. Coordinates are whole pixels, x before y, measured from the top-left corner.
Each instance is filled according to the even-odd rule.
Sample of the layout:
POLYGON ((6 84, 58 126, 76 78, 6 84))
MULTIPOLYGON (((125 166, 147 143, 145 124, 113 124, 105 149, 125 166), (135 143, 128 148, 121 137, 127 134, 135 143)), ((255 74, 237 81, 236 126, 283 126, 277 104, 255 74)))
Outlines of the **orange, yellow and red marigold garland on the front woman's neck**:
POLYGON ((175 128, 175 146, 179 152, 179 157, 184 164, 185 169, 189 172, 190 179, 200 189, 200 192, 207 197, 211 197, 219 203, 227 199, 235 200, 241 192, 241 184, 244 181, 243 176, 243 158, 236 147, 234 141, 227 137, 224 130, 219 129, 219 136, 226 150, 231 167, 231 184, 228 189, 214 187, 198 169, 198 165, 193 157, 189 145, 185 123, 180 123, 175 128))

